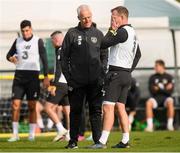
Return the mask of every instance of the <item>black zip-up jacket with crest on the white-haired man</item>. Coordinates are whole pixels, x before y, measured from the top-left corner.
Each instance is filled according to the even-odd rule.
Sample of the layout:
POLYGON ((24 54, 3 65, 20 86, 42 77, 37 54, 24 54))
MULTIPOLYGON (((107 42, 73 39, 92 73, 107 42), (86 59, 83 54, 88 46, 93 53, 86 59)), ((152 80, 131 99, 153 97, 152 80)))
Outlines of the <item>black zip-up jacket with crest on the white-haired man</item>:
POLYGON ((100 83, 107 68, 108 50, 100 49, 103 33, 80 23, 68 30, 62 44, 62 71, 69 86, 100 83))

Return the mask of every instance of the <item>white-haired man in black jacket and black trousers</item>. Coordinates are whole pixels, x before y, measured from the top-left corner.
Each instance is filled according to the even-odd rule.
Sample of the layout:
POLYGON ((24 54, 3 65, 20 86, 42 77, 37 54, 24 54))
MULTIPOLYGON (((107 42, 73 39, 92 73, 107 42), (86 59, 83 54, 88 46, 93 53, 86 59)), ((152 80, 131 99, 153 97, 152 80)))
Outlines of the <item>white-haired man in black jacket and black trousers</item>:
POLYGON ((87 5, 77 9, 79 24, 68 30, 62 46, 62 70, 69 86, 70 137, 66 148, 78 148, 78 133, 84 97, 89 104, 94 143, 101 135, 102 84, 107 67, 107 50, 101 50, 103 34, 92 24, 87 5))

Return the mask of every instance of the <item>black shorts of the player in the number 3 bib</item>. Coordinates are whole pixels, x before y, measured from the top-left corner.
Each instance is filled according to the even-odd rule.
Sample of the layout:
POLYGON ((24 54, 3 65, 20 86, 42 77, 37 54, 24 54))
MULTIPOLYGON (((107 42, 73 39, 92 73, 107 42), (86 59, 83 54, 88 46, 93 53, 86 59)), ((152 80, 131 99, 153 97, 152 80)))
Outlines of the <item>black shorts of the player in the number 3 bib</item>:
POLYGON ((39 72, 37 71, 16 71, 13 86, 12 99, 38 100, 40 94, 39 72))

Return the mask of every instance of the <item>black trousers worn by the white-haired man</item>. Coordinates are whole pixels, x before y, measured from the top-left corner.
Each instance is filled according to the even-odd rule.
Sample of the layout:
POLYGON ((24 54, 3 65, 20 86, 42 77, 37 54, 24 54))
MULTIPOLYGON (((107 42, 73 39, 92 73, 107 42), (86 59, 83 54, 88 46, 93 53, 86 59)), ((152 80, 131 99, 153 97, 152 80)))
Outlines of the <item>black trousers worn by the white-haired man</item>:
POLYGON ((98 143, 102 129, 102 87, 98 84, 86 85, 69 91, 70 103, 70 137, 71 142, 78 141, 79 127, 81 124, 81 115, 84 97, 89 105, 89 118, 91 123, 94 143, 98 143))

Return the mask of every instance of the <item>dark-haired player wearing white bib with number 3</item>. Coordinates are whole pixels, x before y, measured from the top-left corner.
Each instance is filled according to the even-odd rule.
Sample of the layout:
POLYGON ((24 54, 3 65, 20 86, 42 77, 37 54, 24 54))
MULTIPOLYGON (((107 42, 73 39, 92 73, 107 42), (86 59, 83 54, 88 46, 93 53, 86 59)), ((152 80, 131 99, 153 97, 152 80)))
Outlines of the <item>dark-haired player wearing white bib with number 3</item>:
POLYGON ((42 39, 33 35, 31 22, 23 20, 20 24, 22 37, 18 37, 7 53, 7 60, 16 65, 12 86, 12 127, 13 135, 9 142, 19 140, 18 121, 21 101, 26 95, 29 108, 29 140, 35 138, 36 101, 40 93, 40 61, 44 70, 44 87, 49 86, 47 54, 42 39))

